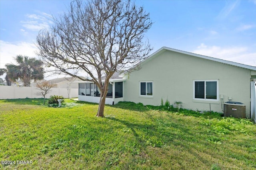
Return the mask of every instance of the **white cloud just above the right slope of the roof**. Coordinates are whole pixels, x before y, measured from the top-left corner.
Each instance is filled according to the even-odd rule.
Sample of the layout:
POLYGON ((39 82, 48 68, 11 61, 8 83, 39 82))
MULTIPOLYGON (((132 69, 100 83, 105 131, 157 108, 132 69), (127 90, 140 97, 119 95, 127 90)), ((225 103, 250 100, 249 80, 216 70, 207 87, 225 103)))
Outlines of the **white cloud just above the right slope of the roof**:
POLYGON ((249 52, 247 47, 218 47, 202 43, 192 53, 251 66, 255 66, 256 62, 256 52, 249 52))

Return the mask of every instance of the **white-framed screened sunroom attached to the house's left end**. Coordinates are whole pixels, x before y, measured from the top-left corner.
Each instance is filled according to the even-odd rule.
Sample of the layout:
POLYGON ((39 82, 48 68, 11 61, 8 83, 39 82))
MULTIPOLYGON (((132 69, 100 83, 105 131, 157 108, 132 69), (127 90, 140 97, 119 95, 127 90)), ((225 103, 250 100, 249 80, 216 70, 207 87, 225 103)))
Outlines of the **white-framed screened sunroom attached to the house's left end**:
MULTIPOLYGON (((110 79, 105 104, 114 105, 120 101, 124 101, 124 81, 125 79, 110 79)), ((80 101, 92 103, 100 102, 100 90, 93 82, 80 82, 78 93, 78 100, 80 101)))

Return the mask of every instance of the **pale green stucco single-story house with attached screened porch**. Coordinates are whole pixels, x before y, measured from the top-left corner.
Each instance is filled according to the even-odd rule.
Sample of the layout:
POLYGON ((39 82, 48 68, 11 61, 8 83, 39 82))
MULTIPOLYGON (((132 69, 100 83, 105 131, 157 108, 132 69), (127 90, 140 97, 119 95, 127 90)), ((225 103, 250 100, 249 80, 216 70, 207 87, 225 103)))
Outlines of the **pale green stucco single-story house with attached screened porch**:
MULTIPOLYGON (((251 106, 256 104, 250 102, 250 81, 255 76, 254 66, 162 47, 142 61, 139 70, 110 80, 106 104, 129 101, 159 106, 161 99, 168 99, 170 104, 182 102, 186 109, 211 107, 222 112, 224 102, 235 101, 243 103, 246 117, 251 117, 251 106)), ((80 83, 79 92, 79 100, 99 102, 93 83, 80 83)))

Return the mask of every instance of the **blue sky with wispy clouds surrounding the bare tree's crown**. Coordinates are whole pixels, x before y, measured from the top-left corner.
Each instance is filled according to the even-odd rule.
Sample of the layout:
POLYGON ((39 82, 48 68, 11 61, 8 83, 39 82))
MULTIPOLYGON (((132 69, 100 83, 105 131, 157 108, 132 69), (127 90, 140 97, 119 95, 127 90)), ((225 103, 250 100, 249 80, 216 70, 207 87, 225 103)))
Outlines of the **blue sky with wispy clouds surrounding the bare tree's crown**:
MULTIPOLYGON (((0 68, 13 57, 37 57, 36 36, 70 0, 0 0, 0 68)), ((153 47, 170 47, 256 66, 256 0, 137 0, 154 22, 153 47)), ((56 78, 56 77, 54 77, 56 78)), ((51 78, 48 78, 51 79, 51 78)))

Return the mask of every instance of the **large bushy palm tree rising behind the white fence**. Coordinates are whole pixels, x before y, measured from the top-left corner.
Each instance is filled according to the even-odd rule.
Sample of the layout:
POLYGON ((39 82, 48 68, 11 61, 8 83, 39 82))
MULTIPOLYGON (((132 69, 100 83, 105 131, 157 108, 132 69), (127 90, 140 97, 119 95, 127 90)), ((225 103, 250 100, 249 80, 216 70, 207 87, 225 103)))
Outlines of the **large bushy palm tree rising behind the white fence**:
POLYGON ((30 86, 31 80, 42 80, 44 78, 44 69, 42 62, 36 58, 17 55, 14 60, 18 65, 6 64, 7 76, 10 81, 15 82, 20 78, 24 86, 30 86))

